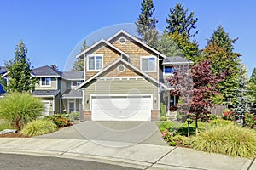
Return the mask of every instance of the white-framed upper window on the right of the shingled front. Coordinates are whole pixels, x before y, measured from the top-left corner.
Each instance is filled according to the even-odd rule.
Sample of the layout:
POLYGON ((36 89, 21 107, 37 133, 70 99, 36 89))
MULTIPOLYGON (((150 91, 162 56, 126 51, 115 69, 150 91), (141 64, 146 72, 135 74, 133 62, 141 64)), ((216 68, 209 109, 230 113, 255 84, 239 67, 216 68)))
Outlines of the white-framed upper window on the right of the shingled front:
POLYGON ((156 71, 156 62, 154 56, 143 56, 141 57, 141 70, 146 72, 156 71))

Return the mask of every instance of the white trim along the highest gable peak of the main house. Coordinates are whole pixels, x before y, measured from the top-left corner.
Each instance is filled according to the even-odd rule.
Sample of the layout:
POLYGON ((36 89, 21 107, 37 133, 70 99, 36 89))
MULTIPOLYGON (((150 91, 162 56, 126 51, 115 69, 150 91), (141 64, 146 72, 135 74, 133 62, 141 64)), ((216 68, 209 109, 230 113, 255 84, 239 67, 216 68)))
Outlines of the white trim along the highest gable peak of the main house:
POLYGON ((142 42, 141 40, 137 39, 136 37, 131 36, 131 34, 127 33, 126 31, 120 30, 119 32, 117 32, 116 34, 114 34, 112 37, 108 38, 108 42, 111 42, 111 40, 113 40, 114 37, 119 36, 120 34, 124 34, 126 37, 130 37, 132 40, 134 40, 135 42, 140 43, 141 45, 143 45, 145 48, 148 48, 150 51, 154 52, 154 54, 158 54, 159 56, 161 56, 162 58, 166 59, 166 55, 161 54, 159 51, 157 51, 154 48, 151 48, 150 46, 148 46, 146 43, 142 42))

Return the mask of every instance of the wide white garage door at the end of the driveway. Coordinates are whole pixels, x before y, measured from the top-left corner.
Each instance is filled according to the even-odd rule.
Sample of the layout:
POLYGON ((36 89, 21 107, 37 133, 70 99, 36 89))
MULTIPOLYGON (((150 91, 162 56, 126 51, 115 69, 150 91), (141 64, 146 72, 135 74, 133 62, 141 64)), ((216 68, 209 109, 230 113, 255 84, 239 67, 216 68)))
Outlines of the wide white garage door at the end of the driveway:
POLYGON ((91 99, 92 121, 151 121, 152 97, 96 96, 91 99))

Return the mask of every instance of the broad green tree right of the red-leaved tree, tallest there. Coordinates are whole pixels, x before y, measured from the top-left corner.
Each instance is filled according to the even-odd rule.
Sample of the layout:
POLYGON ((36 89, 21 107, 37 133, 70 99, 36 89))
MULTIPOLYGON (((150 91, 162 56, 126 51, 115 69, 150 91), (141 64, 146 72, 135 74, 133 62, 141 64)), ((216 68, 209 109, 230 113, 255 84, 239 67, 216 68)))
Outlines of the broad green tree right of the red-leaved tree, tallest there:
POLYGON ((234 98, 235 89, 238 88, 241 54, 233 52, 236 40, 237 38, 232 39, 222 26, 218 26, 217 30, 213 31, 211 39, 207 40, 207 47, 203 50, 203 58, 210 59, 212 62, 213 73, 223 79, 217 87, 222 94, 219 99, 216 99, 218 103, 225 103, 228 99, 234 98))

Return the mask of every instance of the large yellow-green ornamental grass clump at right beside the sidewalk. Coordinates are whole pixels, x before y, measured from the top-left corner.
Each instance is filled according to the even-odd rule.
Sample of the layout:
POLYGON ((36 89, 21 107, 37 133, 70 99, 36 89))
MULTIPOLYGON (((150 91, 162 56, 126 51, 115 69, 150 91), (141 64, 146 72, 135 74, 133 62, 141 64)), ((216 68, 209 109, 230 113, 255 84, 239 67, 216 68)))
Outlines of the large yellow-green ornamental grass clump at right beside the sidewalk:
POLYGON ((235 124, 211 127, 192 138, 195 150, 229 156, 255 157, 256 134, 235 124))

